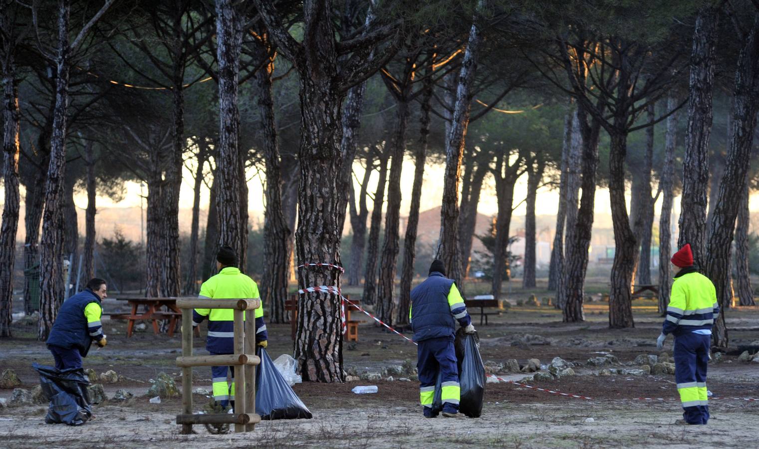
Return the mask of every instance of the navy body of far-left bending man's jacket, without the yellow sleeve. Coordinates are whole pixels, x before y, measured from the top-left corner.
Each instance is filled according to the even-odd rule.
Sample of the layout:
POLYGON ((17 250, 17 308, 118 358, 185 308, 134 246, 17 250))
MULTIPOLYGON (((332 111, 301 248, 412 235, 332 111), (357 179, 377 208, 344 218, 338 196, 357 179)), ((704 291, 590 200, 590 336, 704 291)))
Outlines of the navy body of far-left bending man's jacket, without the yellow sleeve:
POLYGON ((65 300, 58 309, 46 343, 66 349, 77 348, 82 356, 87 356, 93 338, 87 328, 84 308, 90 303, 100 303, 100 298, 90 289, 65 300))

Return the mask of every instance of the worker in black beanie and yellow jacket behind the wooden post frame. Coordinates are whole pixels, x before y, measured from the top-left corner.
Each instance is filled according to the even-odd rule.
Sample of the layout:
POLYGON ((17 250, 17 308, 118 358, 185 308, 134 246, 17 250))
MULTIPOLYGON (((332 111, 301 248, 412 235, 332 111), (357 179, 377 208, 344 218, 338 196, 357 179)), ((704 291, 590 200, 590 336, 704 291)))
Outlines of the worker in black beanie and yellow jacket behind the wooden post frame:
MULTIPOLYGON (((200 286, 199 298, 203 299, 258 299, 258 285, 238 268, 238 258, 230 246, 222 246, 216 255, 219 274, 212 276, 200 286)), ((256 318, 256 344, 266 347, 266 323, 263 322, 263 306, 254 310, 256 318)), ((194 309, 193 328, 208 318, 206 350, 212 355, 235 353, 235 314, 232 309, 194 309)), ((228 410, 230 397, 235 397, 235 367, 211 367, 213 399, 216 406, 228 410), (231 383, 227 383, 227 369, 231 370, 231 383)), ((234 407, 234 400, 231 401, 234 407)), ((222 411, 219 410, 219 411, 222 411)))

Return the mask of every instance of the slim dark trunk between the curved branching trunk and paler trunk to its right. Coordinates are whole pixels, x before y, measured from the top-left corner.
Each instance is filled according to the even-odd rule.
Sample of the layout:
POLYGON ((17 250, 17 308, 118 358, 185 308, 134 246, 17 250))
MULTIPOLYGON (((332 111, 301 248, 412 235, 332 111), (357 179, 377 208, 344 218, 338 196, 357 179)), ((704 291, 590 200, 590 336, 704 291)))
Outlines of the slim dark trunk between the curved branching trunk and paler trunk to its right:
MULTIPOLYGON (((648 121, 655 118, 654 105, 647 108, 648 121)), ((632 221, 635 239, 641 246, 638 262, 638 284, 651 283, 651 233, 653 232, 653 196, 651 196, 651 171, 653 170, 653 126, 646 128, 646 153, 641 173, 641 209, 632 221)))

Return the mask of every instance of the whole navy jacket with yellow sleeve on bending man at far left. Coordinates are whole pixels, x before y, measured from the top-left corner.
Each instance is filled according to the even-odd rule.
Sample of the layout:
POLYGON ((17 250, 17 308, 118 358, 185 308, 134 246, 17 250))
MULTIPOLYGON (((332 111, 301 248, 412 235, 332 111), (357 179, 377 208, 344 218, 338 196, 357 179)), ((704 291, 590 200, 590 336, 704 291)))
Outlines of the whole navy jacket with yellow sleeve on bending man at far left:
POLYGON ((87 356, 92 341, 102 338, 101 313, 100 297, 89 288, 80 291, 61 304, 46 344, 77 348, 87 356))

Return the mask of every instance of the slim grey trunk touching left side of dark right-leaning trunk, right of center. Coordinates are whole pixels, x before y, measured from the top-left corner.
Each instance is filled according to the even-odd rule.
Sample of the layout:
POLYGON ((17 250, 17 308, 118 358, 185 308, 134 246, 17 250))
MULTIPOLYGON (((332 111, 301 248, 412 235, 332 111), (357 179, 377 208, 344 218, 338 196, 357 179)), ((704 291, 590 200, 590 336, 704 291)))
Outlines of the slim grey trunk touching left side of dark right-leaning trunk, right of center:
POLYGON ((578 121, 578 109, 572 112, 572 140, 569 143, 568 168, 567 168, 567 187, 566 187, 566 223, 565 237, 563 245, 563 256, 559 259, 557 280, 556 280, 556 308, 564 309, 566 303, 567 290, 566 281, 566 261, 569 254, 569 245, 577 238, 577 216, 579 213, 578 203, 580 202, 580 181, 581 165, 583 155, 582 134, 580 132, 580 122, 578 121))

